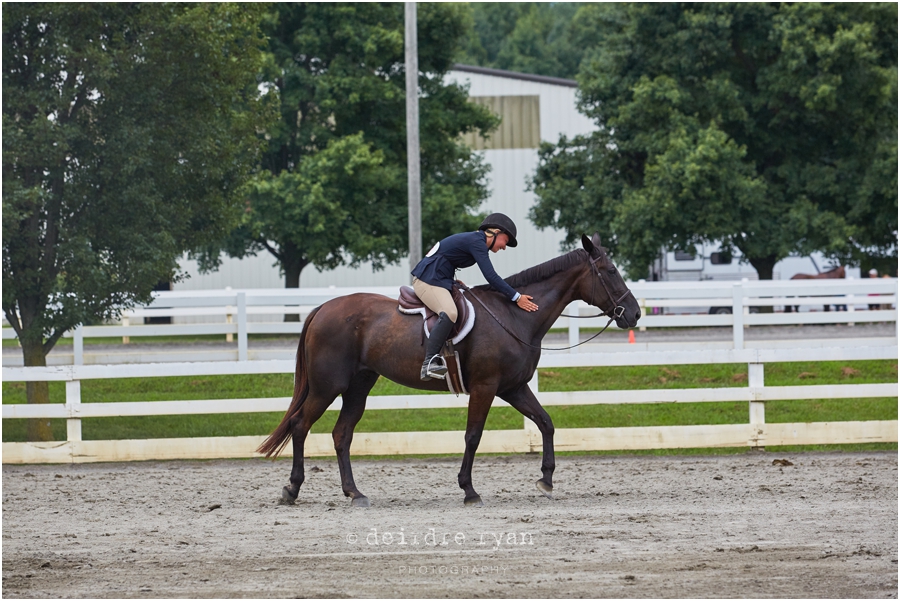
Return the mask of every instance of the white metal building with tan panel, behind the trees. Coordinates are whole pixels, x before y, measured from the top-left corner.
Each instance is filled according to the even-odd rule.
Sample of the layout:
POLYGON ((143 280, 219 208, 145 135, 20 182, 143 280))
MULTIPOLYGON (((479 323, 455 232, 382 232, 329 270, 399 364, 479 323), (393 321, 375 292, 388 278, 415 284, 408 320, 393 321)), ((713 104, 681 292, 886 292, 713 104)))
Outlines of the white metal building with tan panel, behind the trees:
MULTIPOLYGON (((552 229, 538 230, 528 220, 534 194, 527 191, 527 181, 537 167, 537 148, 541 141, 555 143, 560 134, 574 136, 594 129, 593 122, 575 108, 576 82, 466 65, 456 65, 447 80, 468 85, 471 101, 490 106, 502 119, 488 140, 474 135, 466 139, 472 148, 484 153, 491 166, 490 197, 481 210, 506 213, 519 230, 517 248, 492 255, 497 272, 507 277, 559 255, 564 234, 552 229)), ((428 249, 435 242, 423 240, 422 247, 428 249)), ((211 274, 200 274, 195 261, 183 260, 181 266, 190 278, 176 284, 176 290, 284 286, 275 259, 268 253, 240 260, 225 257, 219 271, 211 274)), ((468 285, 484 283, 477 267, 461 271, 459 277, 468 285)), ((300 286, 304 288, 408 283, 407 259, 383 271, 373 271, 369 265, 363 265, 358 269, 339 267, 319 272, 309 266, 300 276, 300 286)))

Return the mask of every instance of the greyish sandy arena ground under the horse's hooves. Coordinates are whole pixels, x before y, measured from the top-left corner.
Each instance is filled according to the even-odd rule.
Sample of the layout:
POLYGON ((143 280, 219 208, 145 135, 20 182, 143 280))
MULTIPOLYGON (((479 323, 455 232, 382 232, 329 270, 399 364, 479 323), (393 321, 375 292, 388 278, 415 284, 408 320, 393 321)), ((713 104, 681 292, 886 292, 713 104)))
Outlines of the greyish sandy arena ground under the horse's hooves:
POLYGON ((897 597, 896 453, 459 461, 5 465, 3 596, 897 597))

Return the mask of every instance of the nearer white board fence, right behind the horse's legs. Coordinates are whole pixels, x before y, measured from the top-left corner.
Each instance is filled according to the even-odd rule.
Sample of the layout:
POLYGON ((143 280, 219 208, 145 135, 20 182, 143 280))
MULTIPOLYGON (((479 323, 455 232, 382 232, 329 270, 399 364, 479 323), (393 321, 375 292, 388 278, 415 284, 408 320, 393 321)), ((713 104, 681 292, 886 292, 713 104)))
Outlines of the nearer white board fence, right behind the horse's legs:
MULTIPOLYGON (((831 341, 832 343, 838 341, 831 341)), ((897 421, 769 424, 765 403, 780 399, 896 397, 896 383, 846 384, 839 386, 765 386, 766 363, 797 361, 848 361, 896 359, 892 346, 825 347, 804 349, 722 349, 705 351, 638 351, 630 353, 552 354, 542 357, 540 368, 618 365, 678 365, 744 363, 748 366, 746 388, 701 388, 638 391, 542 392, 545 405, 640 404, 694 402, 748 402, 748 422, 721 426, 654 426, 642 428, 557 429, 558 450, 632 450, 690 447, 763 447, 786 444, 843 444, 897 442, 897 421)), ((92 417, 137 415, 185 415, 284 411, 289 399, 226 399, 156 401, 131 403, 82 403, 81 381, 105 378, 202 376, 292 372, 293 361, 229 361, 203 363, 159 363, 143 365, 65 365, 48 367, 4 367, 4 381, 64 381, 65 405, 4 405, 4 419, 64 418, 67 440, 52 443, 3 443, 5 463, 69 463, 148 459, 251 457, 264 436, 221 438, 84 441, 81 420, 92 417)), ((531 382, 537 390, 537 372, 531 382)), ((395 395, 370 397, 367 408, 428 409, 465 407, 466 397, 452 395, 395 395)), ((337 399, 331 410, 341 407, 337 399)), ((484 433, 482 452, 539 451, 537 428, 527 419, 521 430, 489 430, 484 433)), ((463 432, 357 433, 351 452, 355 455, 461 453, 463 432)), ((331 455, 331 436, 312 434, 307 439, 310 456, 331 455)), ((287 453, 290 455, 290 452, 287 453)))

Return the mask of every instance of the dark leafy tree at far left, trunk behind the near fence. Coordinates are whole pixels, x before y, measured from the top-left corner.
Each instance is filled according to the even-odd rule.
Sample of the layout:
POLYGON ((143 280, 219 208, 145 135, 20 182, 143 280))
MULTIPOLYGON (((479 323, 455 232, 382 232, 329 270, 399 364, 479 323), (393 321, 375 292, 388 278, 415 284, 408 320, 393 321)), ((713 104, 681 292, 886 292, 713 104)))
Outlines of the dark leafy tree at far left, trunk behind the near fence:
MULTIPOLYGON (((3 311, 25 365, 148 301, 186 249, 232 226, 265 124, 258 13, 3 5, 3 311)), ((48 402, 46 382, 27 395, 48 402)))

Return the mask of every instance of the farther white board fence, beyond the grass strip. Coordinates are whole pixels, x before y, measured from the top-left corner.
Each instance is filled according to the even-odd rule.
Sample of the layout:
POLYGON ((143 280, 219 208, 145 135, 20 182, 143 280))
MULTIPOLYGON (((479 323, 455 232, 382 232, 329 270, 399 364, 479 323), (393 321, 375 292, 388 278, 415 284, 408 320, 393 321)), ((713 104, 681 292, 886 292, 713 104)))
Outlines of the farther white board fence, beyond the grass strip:
MULTIPOLYGON (((639 330, 652 328, 722 327, 731 328, 730 343, 716 344, 720 348, 743 349, 751 346, 760 348, 761 343, 747 343, 744 332, 747 328, 762 325, 809 325, 893 322, 896 336, 897 279, 861 280, 794 280, 794 281, 742 281, 742 282, 631 282, 629 287, 643 307, 644 316, 639 330), (770 306, 776 310, 785 305, 797 305, 801 312, 754 313, 759 307, 770 306), (847 311, 822 311, 823 305, 844 305, 847 311), (868 310, 870 305, 892 307, 886 310, 868 310), (707 307, 726 307, 731 314, 711 315, 697 312, 707 307), (654 309, 664 314, 654 314, 654 309), (681 312, 685 314, 678 314, 681 312)), ((54 354, 48 364, 120 363, 156 361, 194 361, 197 354, 189 351, 165 353, 129 353, 125 348, 113 353, 84 355, 84 339, 96 337, 121 337, 127 341, 132 336, 198 336, 221 335, 228 340, 237 338, 236 350, 204 350, 203 360, 222 359, 245 361, 251 359, 286 359, 292 351, 250 350, 250 334, 299 334, 302 322, 285 322, 286 314, 301 317, 330 299, 353 292, 374 292, 396 297, 396 286, 347 289, 347 288, 301 288, 293 290, 210 290, 189 292, 158 292, 155 300, 147 307, 138 307, 123 314, 120 324, 84 326, 67 333, 74 338, 73 352, 54 354), (175 325, 133 325, 144 317, 174 317, 175 319, 219 319, 219 323, 181 323, 175 325), (269 319, 270 321, 256 321, 269 319)), ((580 311, 590 315, 596 309, 584 303, 573 303, 566 313, 580 311)), ((561 317, 556 328, 568 328, 569 344, 579 340, 581 328, 600 328, 606 320, 568 319, 561 317)), ((615 324, 611 326, 615 328, 615 324)), ((11 328, 3 328, 3 338, 15 338, 11 328)), ((883 344, 881 341, 845 340, 845 346, 868 346, 883 344)), ((786 341, 788 346, 795 346, 786 341)), ((769 344, 769 343, 765 343, 769 344)), ((818 344, 818 343, 814 343, 818 344)), ((704 343, 703 346, 708 346, 704 343)), ((785 346, 782 344, 781 346, 785 346)), ((660 345, 655 345, 660 348, 660 345)), ((698 347, 697 344, 678 344, 678 348, 698 347)), ((649 347, 630 347, 629 350, 646 350, 649 347)), ((579 353, 583 348, 573 349, 579 353)), ((608 350, 613 350, 609 348, 608 350)), ((621 349, 615 349, 621 350, 621 349)), ((4 365, 22 365, 19 356, 4 357, 4 365)))

